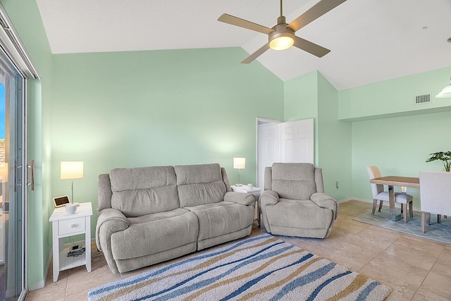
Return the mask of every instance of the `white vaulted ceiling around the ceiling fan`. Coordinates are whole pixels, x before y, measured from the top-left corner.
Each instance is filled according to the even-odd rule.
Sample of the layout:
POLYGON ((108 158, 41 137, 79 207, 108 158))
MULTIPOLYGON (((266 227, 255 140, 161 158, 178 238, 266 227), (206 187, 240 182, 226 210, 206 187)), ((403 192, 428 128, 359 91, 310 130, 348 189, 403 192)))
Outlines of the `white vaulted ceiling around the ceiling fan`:
MULTIPOLYGON (((316 2, 285 0, 287 22, 316 2)), ((267 36, 218 22, 218 17, 228 13, 273 27, 280 13, 278 0, 37 4, 54 54, 216 47, 242 47, 251 54, 267 36)), ((451 0, 347 0, 296 35, 331 51, 319 59, 295 47, 270 49, 257 60, 282 80, 317 69, 338 90, 345 90, 451 66, 451 0)))

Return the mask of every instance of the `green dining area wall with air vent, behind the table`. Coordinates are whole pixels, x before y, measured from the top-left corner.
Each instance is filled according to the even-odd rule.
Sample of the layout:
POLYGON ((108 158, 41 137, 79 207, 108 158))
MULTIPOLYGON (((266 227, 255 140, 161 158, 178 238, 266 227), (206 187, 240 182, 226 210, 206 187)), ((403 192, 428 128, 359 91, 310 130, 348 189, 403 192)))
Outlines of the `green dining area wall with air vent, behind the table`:
MULTIPOLYGON (((372 199, 369 165, 383 176, 418 177, 419 171, 443 169, 440 161, 425 161, 451 149, 451 99, 435 98, 450 74, 446 67, 339 92, 340 119, 352 123, 352 197, 372 199), (431 103, 414 104, 421 94, 431 94, 431 103)), ((419 190, 407 192, 419 209, 419 190)))

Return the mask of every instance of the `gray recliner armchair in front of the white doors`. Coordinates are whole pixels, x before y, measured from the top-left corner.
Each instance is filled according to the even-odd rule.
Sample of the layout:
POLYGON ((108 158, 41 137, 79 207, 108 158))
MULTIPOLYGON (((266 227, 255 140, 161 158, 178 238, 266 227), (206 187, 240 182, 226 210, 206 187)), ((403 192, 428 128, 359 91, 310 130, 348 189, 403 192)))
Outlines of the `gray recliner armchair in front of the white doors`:
POLYGON ((326 238, 338 216, 338 202, 324 193, 323 173, 309 163, 274 163, 265 168, 259 198, 268 233, 326 238))

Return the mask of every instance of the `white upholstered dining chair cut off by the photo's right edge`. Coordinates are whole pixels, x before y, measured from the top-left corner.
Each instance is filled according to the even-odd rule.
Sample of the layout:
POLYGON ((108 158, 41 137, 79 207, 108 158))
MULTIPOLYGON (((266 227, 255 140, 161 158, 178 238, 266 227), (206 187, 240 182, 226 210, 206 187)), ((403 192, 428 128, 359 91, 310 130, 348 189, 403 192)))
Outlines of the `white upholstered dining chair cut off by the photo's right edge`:
POLYGON ((451 215, 451 173, 448 171, 420 171, 421 232, 431 223, 431 213, 451 215), (426 220, 427 219, 427 220, 426 220))

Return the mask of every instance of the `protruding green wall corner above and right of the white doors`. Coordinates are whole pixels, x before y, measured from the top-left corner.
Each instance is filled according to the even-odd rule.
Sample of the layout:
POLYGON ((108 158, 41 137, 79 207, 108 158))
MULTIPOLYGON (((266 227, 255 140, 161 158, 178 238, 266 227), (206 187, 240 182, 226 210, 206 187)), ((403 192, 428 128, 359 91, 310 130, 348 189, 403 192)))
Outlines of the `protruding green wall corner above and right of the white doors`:
POLYGON ((323 168, 325 192, 339 200, 349 197, 351 125, 338 120, 338 91, 314 70, 286 81, 284 97, 285 121, 314 118, 314 161, 323 168))

